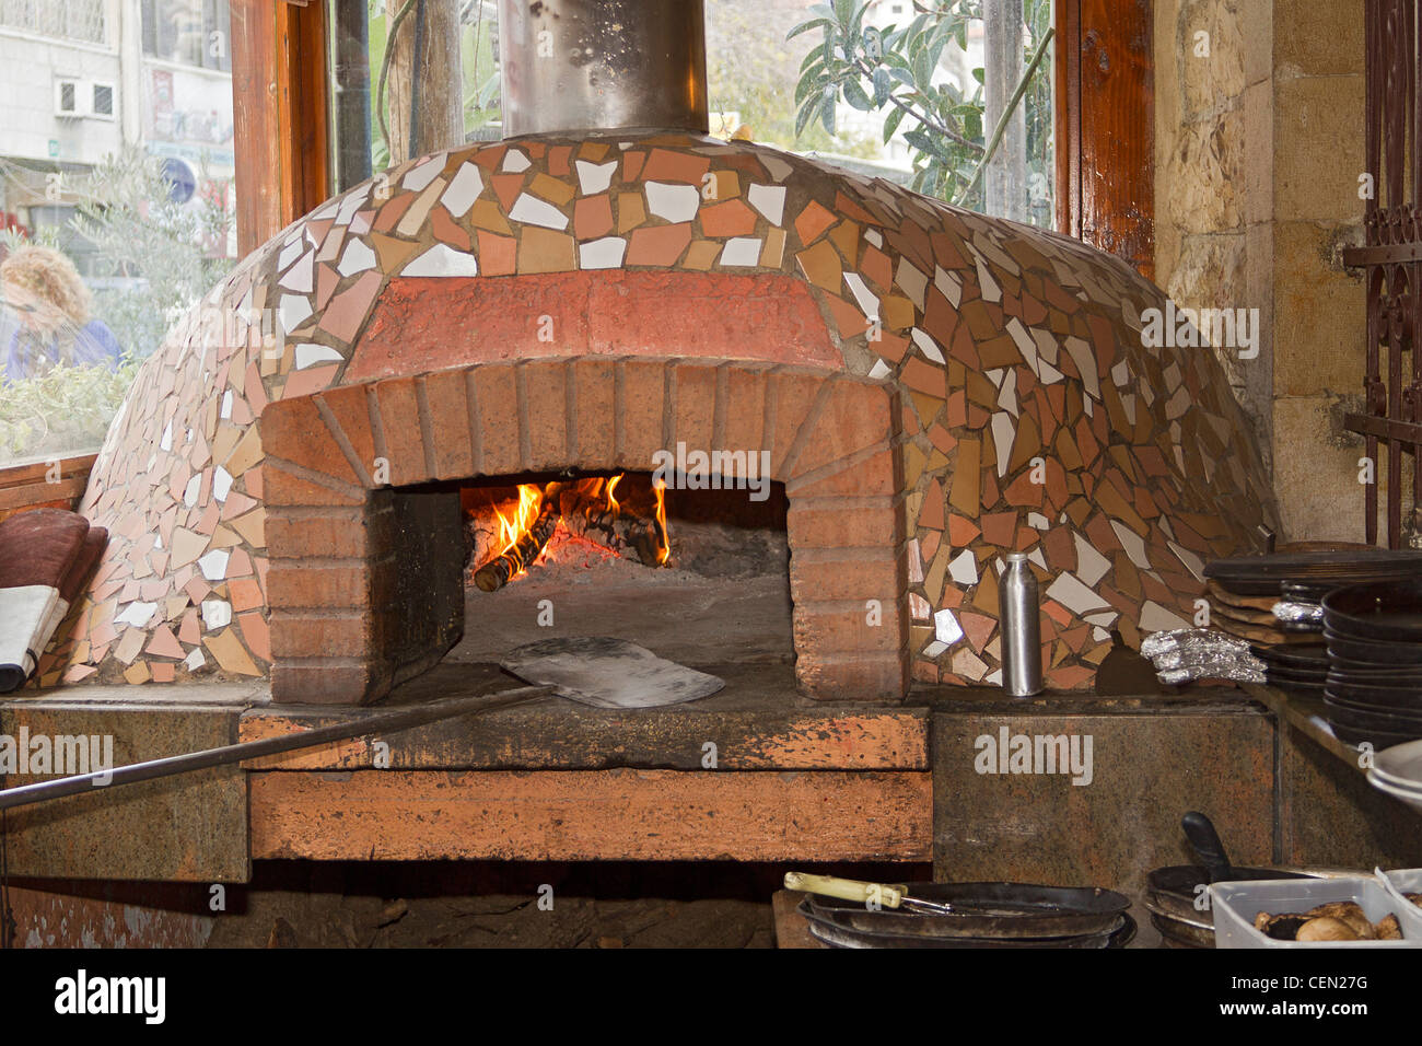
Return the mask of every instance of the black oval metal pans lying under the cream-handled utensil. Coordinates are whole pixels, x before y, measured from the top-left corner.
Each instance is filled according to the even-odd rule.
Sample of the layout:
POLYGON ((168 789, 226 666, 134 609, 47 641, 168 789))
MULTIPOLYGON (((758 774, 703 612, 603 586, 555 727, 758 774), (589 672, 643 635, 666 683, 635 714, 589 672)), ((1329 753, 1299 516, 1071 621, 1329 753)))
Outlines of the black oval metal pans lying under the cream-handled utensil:
POLYGON ((947 902, 951 915, 923 915, 809 897, 809 911, 845 929, 927 938, 1037 939, 1109 934, 1130 899, 1095 887, 1021 882, 914 882, 913 894, 947 902))

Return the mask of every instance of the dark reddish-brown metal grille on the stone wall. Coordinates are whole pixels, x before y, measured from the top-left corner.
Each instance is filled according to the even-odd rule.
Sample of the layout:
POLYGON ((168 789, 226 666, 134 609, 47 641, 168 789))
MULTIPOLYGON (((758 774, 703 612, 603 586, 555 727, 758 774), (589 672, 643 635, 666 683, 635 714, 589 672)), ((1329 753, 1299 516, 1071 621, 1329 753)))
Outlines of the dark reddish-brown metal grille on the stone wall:
MULTIPOLYGON (((1422 360, 1415 349, 1422 329, 1422 91, 1418 83, 1419 0, 1367 0, 1367 167, 1374 192, 1364 216, 1365 246, 1344 252, 1362 266, 1368 295, 1368 370, 1364 413, 1344 424, 1362 434, 1378 478, 1388 468, 1388 546, 1418 532, 1416 495, 1422 490, 1422 360), (1411 458, 1405 464, 1404 458, 1411 458), (1405 471, 1406 470, 1406 471, 1405 471), (1409 477, 1411 474, 1411 477, 1409 477), (1402 518, 1402 492, 1411 478, 1412 508, 1402 518)), ((1365 487, 1369 544, 1378 541, 1378 484, 1365 487)))

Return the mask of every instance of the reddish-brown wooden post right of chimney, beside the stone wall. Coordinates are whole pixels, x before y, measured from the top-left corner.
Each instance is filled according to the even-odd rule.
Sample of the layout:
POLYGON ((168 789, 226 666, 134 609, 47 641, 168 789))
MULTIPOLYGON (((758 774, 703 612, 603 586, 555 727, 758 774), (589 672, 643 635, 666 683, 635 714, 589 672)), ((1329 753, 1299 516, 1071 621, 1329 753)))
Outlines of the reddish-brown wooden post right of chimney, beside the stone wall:
POLYGON ((1057 226, 1155 272, 1155 74, 1149 0, 1059 0, 1057 226))

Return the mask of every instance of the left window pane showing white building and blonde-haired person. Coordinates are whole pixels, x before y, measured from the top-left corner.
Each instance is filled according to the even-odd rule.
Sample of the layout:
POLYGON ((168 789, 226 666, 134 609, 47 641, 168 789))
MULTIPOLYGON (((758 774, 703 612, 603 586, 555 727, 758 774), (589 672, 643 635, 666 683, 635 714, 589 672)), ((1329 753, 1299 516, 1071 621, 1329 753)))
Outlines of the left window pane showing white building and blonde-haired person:
POLYGON ((97 450, 236 263, 228 0, 115 7, 0 0, 0 465, 97 450))

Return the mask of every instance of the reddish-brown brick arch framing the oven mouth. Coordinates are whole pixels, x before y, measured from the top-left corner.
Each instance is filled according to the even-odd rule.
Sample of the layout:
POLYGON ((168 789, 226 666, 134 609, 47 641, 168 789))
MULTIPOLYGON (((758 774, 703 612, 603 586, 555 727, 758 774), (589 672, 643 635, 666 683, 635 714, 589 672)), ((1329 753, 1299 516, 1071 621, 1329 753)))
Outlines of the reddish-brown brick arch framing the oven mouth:
POLYGON ((899 700, 909 639, 899 416, 896 393, 876 381, 708 359, 479 363, 272 403, 259 426, 273 696, 375 700, 458 636, 461 572, 435 562, 454 555, 458 492, 421 484, 648 471, 654 451, 685 443, 771 453, 789 498, 802 689, 899 700), (411 535, 429 564, 411 558, 411 535))

